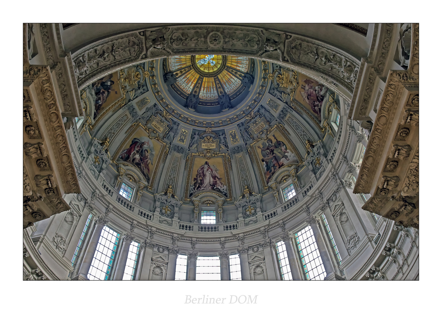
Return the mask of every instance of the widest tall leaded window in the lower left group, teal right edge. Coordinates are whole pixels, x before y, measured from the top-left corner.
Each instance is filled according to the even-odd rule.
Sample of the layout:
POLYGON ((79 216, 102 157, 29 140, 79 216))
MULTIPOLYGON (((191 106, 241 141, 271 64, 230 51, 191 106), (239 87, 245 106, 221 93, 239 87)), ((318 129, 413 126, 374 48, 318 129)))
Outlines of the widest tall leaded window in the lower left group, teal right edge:
POLYGON ((111 230, 107 226, 101 230, 94 259, 92 259, 91 267, 88 272, 89 280, 109 279, 110 268, 112 268, 112 264, 114 263, 115 252, 119 240, 120 233, 111 230))

